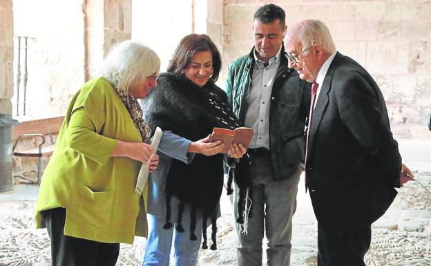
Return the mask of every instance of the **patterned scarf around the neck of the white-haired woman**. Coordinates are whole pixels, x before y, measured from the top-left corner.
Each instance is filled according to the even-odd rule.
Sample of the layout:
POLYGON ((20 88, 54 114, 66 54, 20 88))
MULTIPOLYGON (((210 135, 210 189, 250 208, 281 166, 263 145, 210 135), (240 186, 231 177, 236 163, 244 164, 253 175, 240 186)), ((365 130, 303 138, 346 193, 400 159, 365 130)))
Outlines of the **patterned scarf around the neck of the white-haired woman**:
MULTIPOLYGON (((113 87, 115 88, 115 86, 113 87)), ((115 91, 117 92, 119 98, 122 100, 124 106, 126 106, 127 111, 133 120, 133 124, 135 124, 137 130, 140 131, 142 142, 149 143, 151 137, 151 129, 142 118, 143 113, 140 104, 130 93, 119 91, 117 88, 115 88, 115 91)))

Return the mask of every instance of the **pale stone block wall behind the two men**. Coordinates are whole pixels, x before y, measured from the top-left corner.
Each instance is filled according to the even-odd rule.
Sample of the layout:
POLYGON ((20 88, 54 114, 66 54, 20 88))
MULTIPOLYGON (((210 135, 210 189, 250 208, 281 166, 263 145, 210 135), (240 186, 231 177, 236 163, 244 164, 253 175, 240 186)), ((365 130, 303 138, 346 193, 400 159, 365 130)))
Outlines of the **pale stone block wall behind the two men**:
POLYGON ((414 126, 428 131, 431 1, 225 0, 224 66, 249 53, 253 14, 266 2, 286 11, 288 26, 303 19, 326 23, 337 50, 358 61, 376 79, 392 125, 407 134, 414 126))

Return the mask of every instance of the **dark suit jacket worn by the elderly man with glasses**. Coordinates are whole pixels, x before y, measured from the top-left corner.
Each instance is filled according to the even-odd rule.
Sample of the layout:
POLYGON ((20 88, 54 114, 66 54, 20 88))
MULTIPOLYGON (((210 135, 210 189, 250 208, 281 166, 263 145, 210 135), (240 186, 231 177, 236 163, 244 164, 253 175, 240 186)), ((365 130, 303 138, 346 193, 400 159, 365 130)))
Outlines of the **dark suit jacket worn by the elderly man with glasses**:
POLYGON ((334 57, 310 130, 306 185, 319 226, 371 225, 400 187, 401 156, 379 86, 353 59, 334 57))

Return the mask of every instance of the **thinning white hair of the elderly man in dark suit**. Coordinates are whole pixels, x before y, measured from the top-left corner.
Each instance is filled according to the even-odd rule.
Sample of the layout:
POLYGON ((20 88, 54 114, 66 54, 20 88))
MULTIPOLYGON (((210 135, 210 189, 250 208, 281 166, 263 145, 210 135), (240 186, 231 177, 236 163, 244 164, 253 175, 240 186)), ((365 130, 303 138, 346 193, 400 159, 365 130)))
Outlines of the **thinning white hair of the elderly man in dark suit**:
POLYGON ((298 39, 303 48, 312 47, 320 44, 325 53, 332 54, 335 52, 334 40, 327 26, 320 20, 305 21, 303 27, 298 32, 298 39))

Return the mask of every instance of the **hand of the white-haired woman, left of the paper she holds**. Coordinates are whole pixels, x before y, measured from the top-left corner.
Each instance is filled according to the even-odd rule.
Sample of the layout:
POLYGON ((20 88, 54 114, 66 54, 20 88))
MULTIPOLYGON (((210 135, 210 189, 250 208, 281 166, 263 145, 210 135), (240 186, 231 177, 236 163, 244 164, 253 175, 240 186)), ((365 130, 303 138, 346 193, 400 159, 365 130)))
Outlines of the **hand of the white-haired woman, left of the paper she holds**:
POLYGON ((150 144, 142 142, 123 142, 121 140, 117 142, 117 146, 115 146, 112 154, 113 157, 128 157, 140 162, 148 161, 151 155, 153 155, 153 153, 150 144))

